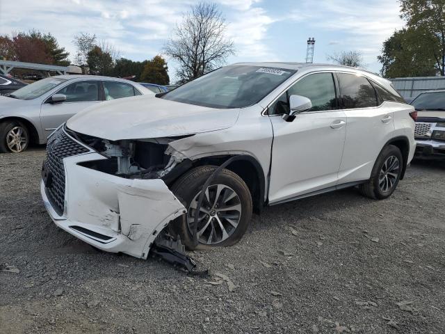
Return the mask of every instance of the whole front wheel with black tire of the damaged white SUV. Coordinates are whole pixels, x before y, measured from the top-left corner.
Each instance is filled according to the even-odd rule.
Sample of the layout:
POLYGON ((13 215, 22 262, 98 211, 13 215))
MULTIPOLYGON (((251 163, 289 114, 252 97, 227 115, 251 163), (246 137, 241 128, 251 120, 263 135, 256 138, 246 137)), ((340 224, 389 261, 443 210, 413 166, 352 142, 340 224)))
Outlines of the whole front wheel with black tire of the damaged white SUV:
POLYGON ((231 170, 223 169, 206 190, 198 215, 199 244, 193 244, 197 200, 202 186, 215 170, 215 166, 193 168, 172 186, 172 193, 187 208, 187 214, 173 221, 172 228, 188 249, 232 246, 243 237, 252 217, 252 197, 248 186, 231 170))

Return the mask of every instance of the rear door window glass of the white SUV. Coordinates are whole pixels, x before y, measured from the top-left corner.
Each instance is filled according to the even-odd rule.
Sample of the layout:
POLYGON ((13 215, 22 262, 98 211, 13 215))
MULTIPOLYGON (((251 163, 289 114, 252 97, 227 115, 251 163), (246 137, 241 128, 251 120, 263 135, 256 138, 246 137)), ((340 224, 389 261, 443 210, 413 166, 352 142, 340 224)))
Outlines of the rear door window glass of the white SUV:
POLYGON ((365 77, 337 73, 344 109, 369 108, 378 105, 375 89, 365 77))

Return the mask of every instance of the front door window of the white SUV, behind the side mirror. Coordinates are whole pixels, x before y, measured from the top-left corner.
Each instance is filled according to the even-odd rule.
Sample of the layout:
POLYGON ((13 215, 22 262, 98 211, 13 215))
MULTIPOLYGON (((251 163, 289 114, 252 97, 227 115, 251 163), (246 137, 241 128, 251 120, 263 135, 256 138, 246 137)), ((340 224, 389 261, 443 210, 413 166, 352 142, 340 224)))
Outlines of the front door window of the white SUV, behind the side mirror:
POLYGON ((289 113, 289 97, 302 95, 312 102, 309 111, 328 111, 337 109, 334 77, 332 73, 315 73, 304 77, 286 90, 269 109, 269 115, 289 113))

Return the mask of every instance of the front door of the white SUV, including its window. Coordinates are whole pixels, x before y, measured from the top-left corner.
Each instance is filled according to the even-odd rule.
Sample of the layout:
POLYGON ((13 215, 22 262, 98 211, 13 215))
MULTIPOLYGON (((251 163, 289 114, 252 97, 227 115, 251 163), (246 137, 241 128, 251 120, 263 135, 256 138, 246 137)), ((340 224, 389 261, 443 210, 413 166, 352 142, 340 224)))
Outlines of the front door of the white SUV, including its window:
POLYGON ((345 144, 346 115, 339 110, 333 74, 302 77, 270 105, 268 113, 274 134, 270 204, 335 186, 345 144), (289 113, 291 95, 308 97, 312 109, 286 122, 281 116, 289 113))

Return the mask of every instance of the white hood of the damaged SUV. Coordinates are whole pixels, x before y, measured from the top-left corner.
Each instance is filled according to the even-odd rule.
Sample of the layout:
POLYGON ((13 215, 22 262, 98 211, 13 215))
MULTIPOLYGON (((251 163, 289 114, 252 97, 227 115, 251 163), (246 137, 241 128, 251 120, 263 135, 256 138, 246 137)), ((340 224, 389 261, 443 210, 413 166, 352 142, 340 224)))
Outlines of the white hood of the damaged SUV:
POLYGON ((77 113, 67 121, 67 127, 111 141, 183 136, 232 127, 239 111, 151 96, 126 97, 102 102, 77 113))

